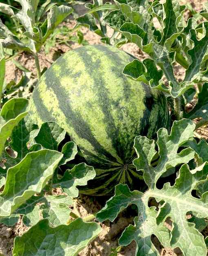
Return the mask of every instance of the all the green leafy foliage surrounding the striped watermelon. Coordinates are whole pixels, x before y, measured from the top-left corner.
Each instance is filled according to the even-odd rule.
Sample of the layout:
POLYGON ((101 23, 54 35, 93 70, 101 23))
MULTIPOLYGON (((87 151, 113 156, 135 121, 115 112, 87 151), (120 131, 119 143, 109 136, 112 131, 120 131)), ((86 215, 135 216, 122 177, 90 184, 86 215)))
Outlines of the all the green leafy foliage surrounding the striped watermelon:
MULTIPOLYGON (((39 5, 38 2, 0 3, 4 13, 0 20, 0 42, 6 53, 10 48, 36 54, 42 45, 48 51, 68 33, 65 27, 55 26, 71 13, 71 7, 55 1, 40 1, 39 5), (50 40, 46 41, 47 38, 50 40)), ((186 7, 177 0, 164 4, 157 0, 115 0, 115 5, 94 1, 86 7, 89 13, 77 18, 77 24, 89 27, 106 44, 137 44, 149 58, 129 63, 124 74, 170 96, 174 111, 179 112, 173 111, 173 119, 187 118, 174 121, 169 134, 160 129, 155 141, 135 138, 137 158, 133 164, 143 173, 148 189, 145 193, 130 191, 127 185, 119 184, 115 195, 97 213, 98 221, 113 221, 128 205, 137 208, 134 225, 126 227, 119 247, 111 248, 111 255, 117 255, 121 246, 135 240, 137 256, 159 256, 151 240, 155 235, 164 247, 179 247, 184 255, 206 256, 208 237, 204 238, 201 231, 208 223, 208 143, 195 139, 194 130, 208 122, 208 22, 200 20, 208 19, 208 4, 200 13, 188 6, 193 17, 187 21, 186 7), (110 38, 107 26, 115 30, 110 38), (186 70, 183 81, 179 82, 174 73, 175 62, 186 70), (162 80, 163 75, 168 84, 162 80), (197 104, 187 111, 186 104, 193 98, 197 104), (188 119, 198 117, 201 121, 195 128, 188 119), (168 220, 169 229, 164 225, 168 220)), ((86 43, 82 34, 74 40, 86 43)), ((65 141, 67 136, 62 128, 50 120, 41 127, 34 125, 27 115, 28 100, 10 99, 30 95, 29 91, 21 95, 20 86, 28 83, 31 73, 21 67, 25 75, 20 83, 6 85, 4 51, 0 43, 0 93, 6 99, 0 112, 0 222, 12 226, 22 216, 24 224, 31 227, 22 237, 15 238, 13 255, 77 255, 101 231, 95 222, 81 218, 69 221, 69 206, 79 193, 77 186, 92 180, 95 171, 84 163, 71 163, 77 156, 77 146, 65 141), (56 195, 53 189, 61 189, 64 194, 56 195)))

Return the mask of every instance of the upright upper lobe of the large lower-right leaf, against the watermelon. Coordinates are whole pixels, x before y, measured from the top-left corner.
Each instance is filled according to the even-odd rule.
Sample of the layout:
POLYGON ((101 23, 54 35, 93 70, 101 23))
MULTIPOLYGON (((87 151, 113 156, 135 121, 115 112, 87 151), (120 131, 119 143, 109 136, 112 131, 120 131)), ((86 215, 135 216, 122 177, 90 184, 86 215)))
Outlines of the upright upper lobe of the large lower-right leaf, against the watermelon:
POLYGON ((159 129, 157 132, 159 160, 156 167, 150 164, 156 154, 155 141, 141 136, 135 138, 134 148, 138 158, 133 161, 133 164, 137 170, 144 170, 143 177, 149 188, 155 187, 159 177, 168 172, 169 168, 188 163, 194 158, 195 151, 192 148, 185 148, 178 153, 179 147, 193 137, 194 128, 192 121, 182 119, 173 122, 170 135, 165 128, 159 129))

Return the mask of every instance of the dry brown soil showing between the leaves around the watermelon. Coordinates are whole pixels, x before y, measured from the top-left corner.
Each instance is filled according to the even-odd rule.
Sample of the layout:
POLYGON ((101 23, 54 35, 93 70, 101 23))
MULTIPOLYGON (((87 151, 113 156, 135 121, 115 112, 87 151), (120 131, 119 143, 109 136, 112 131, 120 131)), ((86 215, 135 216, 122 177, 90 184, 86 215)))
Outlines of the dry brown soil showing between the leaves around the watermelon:
MULTIPOLYGON (((162 1, 161 1, 162 2, 162 1)), ((194 0, 180 0, 181 4, 190 3, 193 10, 199 11, 203 9, 202 4, 206 2, 206 0, 198 0, 197 2, 194 0)), ((84 2, 85 3, 85 2, 84 2)), ((86 8, 84 4, 75 5, 75 9, 79 15, 82 15, 86 12, 86 8)), ((190 11, 186 11, 186 16, 190 15, 190 11)), ((64 25, 73 28, 75 25, 73 16, 69 16, 67 22, 62 23, 64 25)), ((87 28, 82 28, 81 31, 84 34, 84 39, 86 39, 90 44, 100 44, 100 37, 95 33, 89 31, 87 28)), ((108 31, 111 33, 111 29, 108 31)), ((58 56, 64 52, 69 51, 70 49, 74 49, 76 47, 80 47, 77 43, 71 43, 70 47, 66 45, 57 45, 53 49, 50 50, 50 54, 46 54, 44 51, 40 51, 39 60, 41 70, 44 67, 50 67, 58 56)), ((144 59, 146 56, 139 51, 139 48, 133 43, 128 43, 122 46, 126 52, 129 52, 139 58, 140 60, 144 59)), ((18 56, 17 60, 22 63, 27 69, 31 70, 35 75, 35 61, 33 56, 30 54, 22 53, 18 56)), ((175 72, 177 72, 177 79, 180 80, 184 76, 184 69, 176 65, 175 72)), ((6 81, 7 83, 12 79, 18 82, 22 76, 21 70, 15 67, 15 65, 8 61, 6 63, 6 81)), ((196 120, 197 121, 197 120, 196 120)), ((203 136, 205 139, 208 139, 208 127, 200 128, 197 130, 199 135, 203 136)), ((106 197, 92 197, 87 195, 81 195, 77 199, 76 208, 79 211, 80 216, 85 218, 91 213, 96 213, 104 206, 106 197)), ((100 223, 103 231, 101 234, 92 242, 88 247, 82 250, 78 255, 79 256, 109 256, 111 254, 111 248, 117 248, 118 239, 124 231, 124 228, 129 224, 133 224, 133 219, 135 216, 134 210, 127 209, 119 214, 119 218, 116 218, 114 222, 105 221, 100 223)), ((171 229, 171 221, 167 220, 166 225, 171 229)), ((13 249, 13 240, 15 236, 21 236, 24 232, 26 232, 29 228, 24 226, 22 220, 18 221, 14 226, 7 227, 4 224, 0 224, 0 253, 4 254, 4 256, 11 256, 13 249)), ((182 252, 179 248, 175 248, 174 250, 171 248, 164 248, 157 240, 157 237, 152 236, 152 241, 155 247, 158 249, 159 254, 162 256, 182 256, 182 252)), ((126 247, 122 247, 121 251, 118 252, 118 256, 134 256, 136 251, 136 243, 133 241, 130 245, 126 247)))

